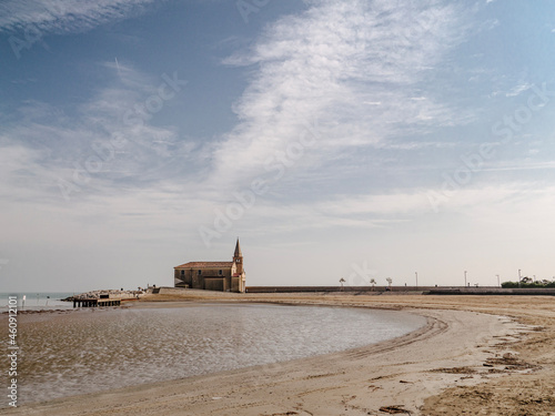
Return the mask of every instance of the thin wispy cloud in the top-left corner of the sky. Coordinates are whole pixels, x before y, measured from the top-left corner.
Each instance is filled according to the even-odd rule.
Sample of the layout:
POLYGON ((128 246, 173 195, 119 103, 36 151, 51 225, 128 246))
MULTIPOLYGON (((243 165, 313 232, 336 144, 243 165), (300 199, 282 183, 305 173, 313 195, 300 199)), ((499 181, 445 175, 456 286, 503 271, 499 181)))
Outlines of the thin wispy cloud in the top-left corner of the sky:
POLYGON ((41 33, 90 30, 141 13, 153 0, 7 0, 0 3, 0 32, 36 28, 41 33))

